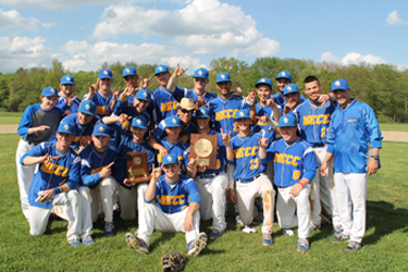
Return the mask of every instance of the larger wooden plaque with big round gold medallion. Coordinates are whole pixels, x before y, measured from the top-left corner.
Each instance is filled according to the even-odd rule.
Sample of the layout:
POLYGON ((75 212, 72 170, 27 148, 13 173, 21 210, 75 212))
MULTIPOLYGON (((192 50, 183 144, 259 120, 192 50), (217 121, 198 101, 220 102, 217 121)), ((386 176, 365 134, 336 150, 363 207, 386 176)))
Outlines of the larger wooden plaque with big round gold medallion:
POLYGON ((207 169, 217 169, 218 135, 191 134, 189 159, 198 158, 198 163, 206 163, 207 169))

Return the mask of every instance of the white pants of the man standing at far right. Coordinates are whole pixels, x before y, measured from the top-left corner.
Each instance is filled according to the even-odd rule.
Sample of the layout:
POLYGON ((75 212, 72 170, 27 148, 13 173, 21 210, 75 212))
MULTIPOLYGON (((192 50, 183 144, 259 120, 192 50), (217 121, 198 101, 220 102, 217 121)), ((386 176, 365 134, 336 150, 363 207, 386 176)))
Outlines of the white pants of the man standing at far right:
POLYGON ((368 174, 334 173, 334 181, 343 233, 361 243, 366 233, 368 174))

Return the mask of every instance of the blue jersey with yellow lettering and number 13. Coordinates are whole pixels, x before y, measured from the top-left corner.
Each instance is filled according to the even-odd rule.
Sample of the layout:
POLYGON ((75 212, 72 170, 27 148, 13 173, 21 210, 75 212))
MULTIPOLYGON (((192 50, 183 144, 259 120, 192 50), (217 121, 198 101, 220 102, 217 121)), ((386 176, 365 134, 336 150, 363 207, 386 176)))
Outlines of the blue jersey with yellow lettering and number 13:
MULTIPOLYGON (((231 139, 234 161, 228 161, 228 163, 235 164, 234 180, 254 178, 267 171, 267 163, 261 163, 259 159, 258 138, 262 138, 262 133, 251 133, 246 137, 237 135, 231 139)), ((271 141, 270 138, 269 145, 271 141)))

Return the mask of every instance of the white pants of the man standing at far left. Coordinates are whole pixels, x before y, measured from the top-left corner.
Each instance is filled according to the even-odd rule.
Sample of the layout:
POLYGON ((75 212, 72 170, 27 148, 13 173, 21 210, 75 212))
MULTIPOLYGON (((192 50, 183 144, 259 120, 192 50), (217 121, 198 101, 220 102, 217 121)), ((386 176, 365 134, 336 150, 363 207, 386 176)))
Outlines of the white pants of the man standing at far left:
POLYGON ((23 165, 20 163, 20 159, 33 148, 35 148, 34 144, 28 144, 28 141, 20 139, 17 151, 15 153, 15 168, 17 170, 20 201, 22 202, 23 214, 27 219, 27 221, 29 221, 29 203, 28 203, 29 185, 32 184, 34 172, 37 169, 37 164, 23 165))

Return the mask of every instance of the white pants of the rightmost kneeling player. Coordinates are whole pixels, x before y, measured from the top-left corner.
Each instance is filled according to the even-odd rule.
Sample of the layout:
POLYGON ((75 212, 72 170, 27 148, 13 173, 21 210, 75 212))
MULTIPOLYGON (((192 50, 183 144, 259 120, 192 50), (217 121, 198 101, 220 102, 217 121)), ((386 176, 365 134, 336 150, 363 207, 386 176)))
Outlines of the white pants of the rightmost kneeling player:
POLYGON ((297 197, 289 194, 290 187, 277 188, 276 217, 281 228, 297 228, 299 238, 309 238, 310 225, 310 184, 302 188, 297 197), (297 210, 297 217, 295 217, 297 210))

